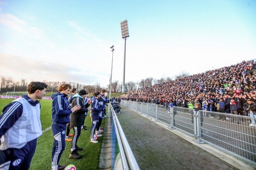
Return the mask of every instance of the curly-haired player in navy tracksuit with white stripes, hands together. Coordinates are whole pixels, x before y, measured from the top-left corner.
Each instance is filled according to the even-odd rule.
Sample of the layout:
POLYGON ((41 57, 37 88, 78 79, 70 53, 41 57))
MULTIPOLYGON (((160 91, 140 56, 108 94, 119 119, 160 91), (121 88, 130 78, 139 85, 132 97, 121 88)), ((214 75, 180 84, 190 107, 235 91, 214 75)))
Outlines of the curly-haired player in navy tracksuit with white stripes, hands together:
POLYGON ((78 106, 69 109, 66 97, 70 94, 70 90, 70 84, 62 84, 58 87, 59 92, 52 95, 52 133, 54 137, 52 170, 62 170, 67 166, 59 165, 60 156, 65 149, 66 123, 70 121, 70 114, 80 109, 78 106))

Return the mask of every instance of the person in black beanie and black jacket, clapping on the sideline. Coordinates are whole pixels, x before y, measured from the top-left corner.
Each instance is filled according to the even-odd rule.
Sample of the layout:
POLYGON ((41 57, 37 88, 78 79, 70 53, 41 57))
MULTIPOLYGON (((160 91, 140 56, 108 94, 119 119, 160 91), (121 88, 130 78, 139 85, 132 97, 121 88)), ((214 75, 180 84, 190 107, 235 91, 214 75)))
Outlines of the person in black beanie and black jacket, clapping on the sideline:
POLYGON ((79 106, 81 107, 79 110, 75 111, 74 113, 70 114, 70 129, 73 128, 74 131, 74 138, 72 141, 72 146, 69 154, 70 159, 78 159, 81 158, 82 155, 78 154, 77 150, 82 150, 82 148, 77 147, 76 143, 78 137, 81 134, 81 126, 84 120, 84 113, 91 110, 90 104, 91 102, 87 102, 84 104, 84 98, 86 98, 87 92, 85 90, 80 90, 78 94, 73 96, 74 100, 72 102, 71 107, 79 106))

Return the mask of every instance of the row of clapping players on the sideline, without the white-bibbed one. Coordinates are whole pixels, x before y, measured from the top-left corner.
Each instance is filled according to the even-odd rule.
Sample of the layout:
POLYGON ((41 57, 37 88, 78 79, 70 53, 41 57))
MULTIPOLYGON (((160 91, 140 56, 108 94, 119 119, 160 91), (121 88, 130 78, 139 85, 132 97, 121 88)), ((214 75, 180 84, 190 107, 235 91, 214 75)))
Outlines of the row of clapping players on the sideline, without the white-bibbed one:
POLYGON ((69 139, 70 129, 73 129, 74 137, 72 140, 69 158, 78 159, 82 157, 82 155, 77 152, 78 150, 82 150, 82 148, 77 146, 77 141, 81 134, 81 129, 85 129, 84 119, 86 118, 88 111, 91 111, 92 117, 90 142, 98 143, 95 138, 102 136, 100 134, 102 132, 100 125, 104 117, 106 104, 109 102, 108 98, 105 96, 106 90, 103 89, 101 93, 94 93, 94 96, 89 99, 86 90, 80 90, 77 93, 76 89, 73 89, 72 96, 70 98, 71 103, 68 104, 67 98, 70 93, 70 89, 71 86, 69 84, 62 84, 58 88, 59 92, 52 96, 52 133, 54 136, 54 145, 52 147, 52 170, 64 169, 67 166, 60 166, 59 161, 61 154, 65 149, 65 140, 67 141, 67 139, 69 139), (62 114, 62 111, 64 110, 71 113, 62 114), (68 123, 67 129, 66 123, 68 123))

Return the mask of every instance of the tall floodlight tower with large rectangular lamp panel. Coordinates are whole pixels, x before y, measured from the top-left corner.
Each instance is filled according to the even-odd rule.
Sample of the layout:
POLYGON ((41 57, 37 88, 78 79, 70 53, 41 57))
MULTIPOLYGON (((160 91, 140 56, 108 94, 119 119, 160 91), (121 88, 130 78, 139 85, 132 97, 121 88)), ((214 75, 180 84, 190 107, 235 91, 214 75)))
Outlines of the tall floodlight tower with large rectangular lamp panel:
POLYGON ((126 47, 126 39, 129 37, 129 30, 128 30, 128 22, 127 20, 121 21, 121 32, 122 32, 122 38, 124 39, 124 71, 123 71, 123 89, 122 92, 125 92, 125 81, 124 81, 124 76, 125 76, 125 47, 126 47))

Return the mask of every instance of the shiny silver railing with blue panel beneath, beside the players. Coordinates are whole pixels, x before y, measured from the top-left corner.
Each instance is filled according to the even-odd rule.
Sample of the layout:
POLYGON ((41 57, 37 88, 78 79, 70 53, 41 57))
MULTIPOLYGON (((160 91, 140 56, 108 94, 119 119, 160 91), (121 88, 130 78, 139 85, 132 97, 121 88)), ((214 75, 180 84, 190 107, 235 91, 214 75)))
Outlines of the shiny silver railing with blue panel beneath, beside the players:
POLYGON ((124 131, 119 123, 118 117, 110 106, 110 148, 112 170, 140 170, 138 163, 132 153, 124 131), (127 158, 127 159, 126 159, 127 158), (128 160, 128 163, 127 163, 128 160), (130 167, 130 168, 129 168, 130 167))

